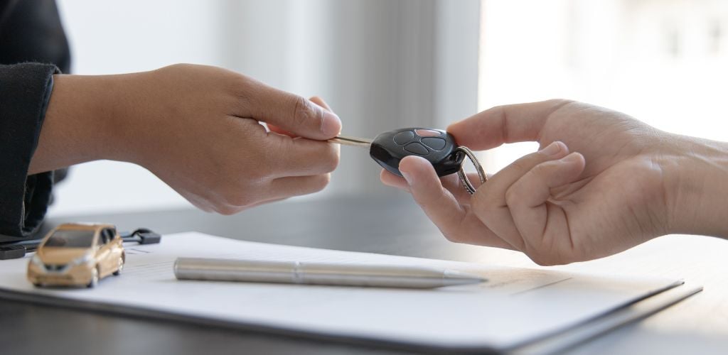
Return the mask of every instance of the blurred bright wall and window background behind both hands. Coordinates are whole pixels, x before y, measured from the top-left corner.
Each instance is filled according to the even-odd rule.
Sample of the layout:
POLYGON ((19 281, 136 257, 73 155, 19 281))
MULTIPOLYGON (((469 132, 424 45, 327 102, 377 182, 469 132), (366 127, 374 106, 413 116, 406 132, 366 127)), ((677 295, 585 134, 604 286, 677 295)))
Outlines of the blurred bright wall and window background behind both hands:
MULTIPOLYGON (((218 65, 320 95, 344 134, 446 127, 505 103, 566 97, 660 129, 728 140, 728 1, 58 0, 76 74, 218 65)), ((483 152, 489 172, 534 151, 483 152)), ((245 159, 245 152, 241 152, 245 159)), ((360 148, 303 199, 392 194, 360 148)), ((71 169, 50 215, 189 207, 141 167, 71 169)))

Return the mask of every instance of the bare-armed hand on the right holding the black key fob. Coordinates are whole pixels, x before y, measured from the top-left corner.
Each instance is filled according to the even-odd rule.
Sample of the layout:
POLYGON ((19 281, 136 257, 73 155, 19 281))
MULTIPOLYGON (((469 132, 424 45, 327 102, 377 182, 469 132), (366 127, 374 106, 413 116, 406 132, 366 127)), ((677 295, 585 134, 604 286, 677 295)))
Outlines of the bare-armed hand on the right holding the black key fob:
POLYGON ((726 194, 728 149, 721 143, 566 100, 491 108, 448 131, 473 150, 541 145, 472 196, 456 175, 440 180, 419 157, 400 162, 406 181, 382 171, 381 180, 410 191, 452 241, 520 250, 553 265, 612 255, 668 233, 728 236, 726 216, 716 212, 724 207, 705 195, 726 194))

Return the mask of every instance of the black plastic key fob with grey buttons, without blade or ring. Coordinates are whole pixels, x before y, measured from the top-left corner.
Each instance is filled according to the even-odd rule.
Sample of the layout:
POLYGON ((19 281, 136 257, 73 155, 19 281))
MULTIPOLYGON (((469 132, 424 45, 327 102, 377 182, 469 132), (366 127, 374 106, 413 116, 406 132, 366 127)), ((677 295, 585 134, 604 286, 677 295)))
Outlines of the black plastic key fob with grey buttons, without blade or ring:
POLYGON ((402 176, 400 160, 422 156, 432 163, 438 176, 454 174, 465 154, 457 150, 455 138, 441 129, 403 128, 384 132, 374 138, 369 155, 392 174, 402 176))

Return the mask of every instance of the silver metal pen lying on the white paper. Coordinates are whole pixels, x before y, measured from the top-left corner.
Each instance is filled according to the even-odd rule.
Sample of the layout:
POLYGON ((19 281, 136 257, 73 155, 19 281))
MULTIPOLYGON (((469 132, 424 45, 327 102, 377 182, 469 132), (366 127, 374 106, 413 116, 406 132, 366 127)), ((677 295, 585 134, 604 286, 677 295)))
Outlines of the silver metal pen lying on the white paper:
POLYGON ((365 287, 426 289, 486 282, 483 277, 444 268, 298 261, 178 258, 174 271, 180 280, 365 287))

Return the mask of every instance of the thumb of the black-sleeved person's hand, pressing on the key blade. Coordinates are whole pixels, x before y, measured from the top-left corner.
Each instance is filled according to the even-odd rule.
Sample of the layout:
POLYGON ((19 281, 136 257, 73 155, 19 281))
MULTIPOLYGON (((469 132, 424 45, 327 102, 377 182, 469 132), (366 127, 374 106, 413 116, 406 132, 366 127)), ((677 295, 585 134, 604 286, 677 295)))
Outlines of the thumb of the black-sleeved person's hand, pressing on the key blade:
POLYGON ((341 132, 339 116, 311 100, 267 86, 258 95, 258 100, 251 100, 255 107, 248 108, 258 121, 314 140, 328 140, 341 132))

